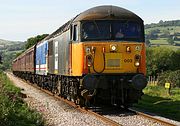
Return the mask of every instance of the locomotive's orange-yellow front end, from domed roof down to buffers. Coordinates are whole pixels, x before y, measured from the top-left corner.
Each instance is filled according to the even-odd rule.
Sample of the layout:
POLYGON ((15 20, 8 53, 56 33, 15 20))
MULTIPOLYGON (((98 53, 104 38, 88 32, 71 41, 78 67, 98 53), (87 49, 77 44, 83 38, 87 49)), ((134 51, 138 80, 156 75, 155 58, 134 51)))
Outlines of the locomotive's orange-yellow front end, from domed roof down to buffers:
POLYGON ((102 8, 87 10, 75 19, 79 24, 73 27, 72 75, 83 77, 85 99, 136 102, 147 84, 143 21, 122 8, 102 8))

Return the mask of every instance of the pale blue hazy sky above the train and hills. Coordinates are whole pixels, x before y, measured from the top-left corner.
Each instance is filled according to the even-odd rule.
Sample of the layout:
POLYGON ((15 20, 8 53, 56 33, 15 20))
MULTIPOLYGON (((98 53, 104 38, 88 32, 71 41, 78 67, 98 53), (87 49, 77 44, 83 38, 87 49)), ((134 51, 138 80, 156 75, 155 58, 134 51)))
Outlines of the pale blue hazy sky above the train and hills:
POLYGON ((25 41, 52 33, 77 14, 99 5, 115 5, 145 22, 180 19, 180 0, 0 0, 0 39, 25 41))

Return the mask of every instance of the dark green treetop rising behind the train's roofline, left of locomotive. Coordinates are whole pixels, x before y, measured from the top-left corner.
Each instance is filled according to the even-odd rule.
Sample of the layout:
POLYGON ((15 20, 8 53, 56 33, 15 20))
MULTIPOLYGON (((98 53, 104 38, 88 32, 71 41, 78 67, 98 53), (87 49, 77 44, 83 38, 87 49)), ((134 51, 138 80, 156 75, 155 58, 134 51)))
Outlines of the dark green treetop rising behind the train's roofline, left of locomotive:
POLYGON ((37 42, 43 40, 47 36, 48 36, 48 34, 43 34, 43 35, 37 35, 36 37, 29 38, 26 42, 25 49, 30 48, 31 46, 33 46, 37 42))

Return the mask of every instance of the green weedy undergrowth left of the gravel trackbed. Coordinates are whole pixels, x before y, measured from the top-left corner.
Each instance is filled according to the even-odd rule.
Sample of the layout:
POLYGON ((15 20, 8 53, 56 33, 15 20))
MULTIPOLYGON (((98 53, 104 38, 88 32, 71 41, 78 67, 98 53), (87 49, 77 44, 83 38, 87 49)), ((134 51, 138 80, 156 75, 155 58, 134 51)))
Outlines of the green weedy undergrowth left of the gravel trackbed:
POLYGON ((0 126, 43 126, 41 115, 23 102, 20 89, 0 73, 0 126))

